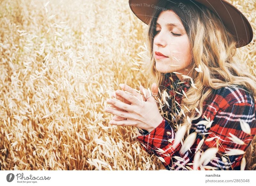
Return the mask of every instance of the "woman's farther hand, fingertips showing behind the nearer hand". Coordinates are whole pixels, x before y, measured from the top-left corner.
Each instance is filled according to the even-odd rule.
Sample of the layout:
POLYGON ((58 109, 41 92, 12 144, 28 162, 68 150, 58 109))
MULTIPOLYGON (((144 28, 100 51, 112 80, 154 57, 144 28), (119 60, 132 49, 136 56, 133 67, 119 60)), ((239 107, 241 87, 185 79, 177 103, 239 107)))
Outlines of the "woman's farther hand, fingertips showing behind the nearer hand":
MULTIPOLYGON (((130 92, 131 94, 134 94, 138 99, 141 99, 141 94, 139 94, 138 92, 136 92, 134 89, 132 89, 130 86, 126 85, 126 84, 122 84, 120 83, 119 86, 124 90, 124 91, 127 91, 127 92, 130 92)), ((140 92, 143 92, 143 87, 140 86, 140 92)), ((156 85, 156 83, 153 83, 152 86, 151 86, 151 92, 152 92, 152 95, 153 96, 157 96, 158 95, 158 86, 156 85)), ((126 103, 126 104, 129 104, 131 105, 131 102, 127 101, 126 99, 124 99, 123 97, 121 96, 118 96, 116 94, 112 94, 111 95, 112 97, 115 97, 116 99, 126 103)), ((142 99, 143 101, 146 101, 146 97, 143 95, 142 96, 142 99)), ((122 109, 119 109, 118 107, 114 106, 114 105, 111 105, 111 107, 119 110, 119 111, 124 111, 122 109)), ((126 112, 126 111, 125 111, 126 112)), ((120 116, 114 116, 112 118, 113 120, 116 120, 116 121, 121 121, 121 120, 126 120, 126 118, 122 118, 120 116)))

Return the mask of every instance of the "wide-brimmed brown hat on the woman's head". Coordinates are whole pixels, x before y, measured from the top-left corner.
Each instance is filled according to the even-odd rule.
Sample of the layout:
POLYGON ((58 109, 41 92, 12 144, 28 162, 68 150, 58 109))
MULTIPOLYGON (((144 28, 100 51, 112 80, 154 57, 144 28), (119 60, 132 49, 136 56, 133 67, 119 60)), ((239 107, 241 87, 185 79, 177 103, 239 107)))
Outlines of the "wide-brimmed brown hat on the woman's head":
MULTIPOLYGON (((167 1, 167 0, 166 0, 167 1)), ((190 0, 192 1, 192 0, 190 0)), ((226 0, 193 0, 203 4, 214 12, 225 27, 236 35, 236 48, 245 46, 252 41, 252 26, 234 5, 226 0)), ((153 11, 157 8, 159 0, 129 0, 129 6, 132 12, 147 25, 152 17, 153 11)), ((172 0, 175 2, 175 0, 172 0)))

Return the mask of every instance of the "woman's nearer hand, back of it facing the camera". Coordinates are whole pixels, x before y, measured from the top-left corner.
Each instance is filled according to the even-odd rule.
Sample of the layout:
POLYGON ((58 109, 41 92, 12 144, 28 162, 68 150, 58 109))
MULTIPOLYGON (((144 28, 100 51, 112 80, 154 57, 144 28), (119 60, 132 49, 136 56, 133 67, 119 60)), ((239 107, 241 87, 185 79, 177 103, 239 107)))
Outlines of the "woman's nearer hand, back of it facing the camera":
MULTIPOLYGON (((143 92, 144 88, 142 86, 140 89, 142 90, 141 92, 143 92)), ((157 85, 153 84, 151 87, 151 90, 153 90, 153 95, 157 95, 158 91, 156 91, 156 89, 158 90, 157 85)), ((134 126, 151 132, 161 123, 163 117, 159 113, 155 98, 149 94, 147 89, 144 90, 147 97, 147 99, 145 98, 145 101, 141 100, 142 95, 140 94, 140 99, 138 99, 134 92, 131 95, 127 92, 124 92, 123 90, 117 90, 120 93, 116 91, 118 96, 129 101, 131 104, 128 104, 129 102, 123 103, 115 99, 108 100, 109 104, 114 105, 115 107, 119 108, 119 110, 107 107, 107 109, 109 109, 106 109, 107 112, 121 118, 127 118, 127 120, 111 120, 113 122, 112 125, 134 126)))

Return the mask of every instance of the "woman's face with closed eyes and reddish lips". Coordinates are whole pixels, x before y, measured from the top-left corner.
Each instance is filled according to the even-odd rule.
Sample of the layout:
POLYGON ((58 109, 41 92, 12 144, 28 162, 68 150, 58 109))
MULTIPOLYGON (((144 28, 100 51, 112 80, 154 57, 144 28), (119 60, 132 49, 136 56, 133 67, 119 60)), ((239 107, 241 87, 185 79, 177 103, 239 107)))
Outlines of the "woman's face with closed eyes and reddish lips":
MULTIPOLYGON (((158 16, 153 52, 157 71, 185 75, 190 72, 192 55, 188 35, 178 16, 171 10, 163 11, 158 16), (157 55, 157 52, 166 57, 157 55)), ((179 77, 178 74, 177 76, 179 77)))

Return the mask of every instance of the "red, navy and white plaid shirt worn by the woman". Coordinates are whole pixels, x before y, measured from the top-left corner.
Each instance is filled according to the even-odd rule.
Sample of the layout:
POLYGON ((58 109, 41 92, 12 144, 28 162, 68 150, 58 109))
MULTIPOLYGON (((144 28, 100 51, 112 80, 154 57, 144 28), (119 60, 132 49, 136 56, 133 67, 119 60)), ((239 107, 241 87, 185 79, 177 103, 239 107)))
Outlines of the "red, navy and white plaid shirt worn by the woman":
MULTIPOLYGON (((170 89, 169 94, 174 95, 175 100, 180 104, 181 95, 174 94, 174 90, 182 94, 182 90, 186 92, 190 88, 189 82, 177 84, 180 80, 175 75, 166 74, 165 87, 170 89), (168 81, 172 77, 172 81, 168 81), (173 86, 171 86, 173 84, 173 86)), ((170 96, 171 97, 171 96, 170 96)), ((205 136, 204 143, 201 146, 202 151, 206 151, 209 148, 217 147, 218 152, 215 158, 213 158, 206 166, 215 167, 216 170, 240 170, 241 160, 243 155, 224 155, 229 149, 240 149, 246 151, 252 142, 256 133, 255 122, 255 100, 247 91, 239 88, 222 87, 220 89, 214 89, 212 96, 206 99, 203 103, 203 113, 197 120, 191 121, 192 126, 190 133, 196 132, 196 140, 190 147, 190 150, 186 151, 183 155, 179 153, 181 143, 172 149, 172 140, 175 138, 175 131, 170 126, 169 122, 163 118, 163 121, 150 133, 143 130, 140 132, 140 136, 136 138, 142 144, 143 150, 149 154, 155 154, 160 159, 164 159, 164 166, 167 170, 189 170, 193 169, 193 160, 198 143, 205 136), (205 120, 204 116, 210 118, 212 125, 210 128, 206 128, 205 125, 195 125, 201 120, 205 120), (249 124, 251 128, 251 135, 246 134, 240 126, 239 119, 244 120, 249 124), (202 133, 207 133, 202 135, 202 133), (235 135, 244 141, 244 145, 234 143, 228 137, 231 137, 229 133, 235 135), (216 137, 217 136, 217 137, 216 137), (212 137, 216 137, 213 140, 212 137), (210 139, 211 138, 211 139, 210 139), (210 139, 210 140, 207 140, 210 139), (169 140, 169 141, 168 141, 169 140), (162 152, 159 152, 159 149, 162 152), (177 156, 181 159, 177 159, 177 156), (175 157, 175 158, 174 158, 175 157)), ((172 106, 172 105, 170 105, 172 106)), ((179 109, 180 111, 180 109, 179 109)), ((178 113, 178 112, 176 112, 178 113)), ((200 153, 202 152, 200 149, 200 153)), ((200 168, 198 167, 198 170, 200 168)), ((205 168, 207 170, 207 168, 205 168)))

